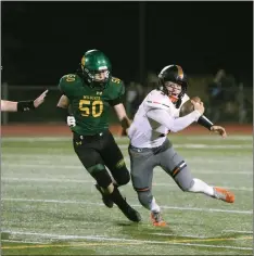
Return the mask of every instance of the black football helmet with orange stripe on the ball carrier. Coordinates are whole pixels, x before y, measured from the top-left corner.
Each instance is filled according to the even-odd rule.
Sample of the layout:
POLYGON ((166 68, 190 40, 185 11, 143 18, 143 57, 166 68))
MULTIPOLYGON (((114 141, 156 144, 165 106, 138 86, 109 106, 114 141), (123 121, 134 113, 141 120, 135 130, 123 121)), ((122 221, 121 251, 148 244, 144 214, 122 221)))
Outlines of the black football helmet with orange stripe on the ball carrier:
POLYGON ((158 74, 160 89, 168 95, 168 90, 165 86, 166 81, 172 81, 181 86, 181 92, 178 95, 177 102, 175 102, 176 107, 178 108, 181 104, 181 99, 187 92, 188 88, 187 76, 183 73, 181 66, 168 65, 165 66, 158 74))

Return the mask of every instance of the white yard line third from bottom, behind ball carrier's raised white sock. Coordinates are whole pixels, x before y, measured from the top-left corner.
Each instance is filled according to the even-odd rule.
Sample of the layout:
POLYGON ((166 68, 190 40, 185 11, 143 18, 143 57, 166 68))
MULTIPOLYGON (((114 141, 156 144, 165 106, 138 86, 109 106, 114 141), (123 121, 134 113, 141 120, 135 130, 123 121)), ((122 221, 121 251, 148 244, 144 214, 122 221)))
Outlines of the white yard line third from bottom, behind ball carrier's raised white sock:
MULTIPOLYGON (((80 179, 55 179, 55 178, 13 178, 13 177, 2 177, 1 181, 5 181, 5 182, 39 182, 39 183, 49 183, 49 182, 60 182, 60 183, 91 183, 91 185, 93 187, 93 180, 86 180, 82 179, 82 177, 80 177, 80 179)), ((126 185, 132 187, 131 183, 128 183, 126 185)), ((177 188, 178 187, 176 184, 170 184, 170 183, 157 183, 154 182, 153 183, 154 187, 173 187, 173 188, 177 188)), ((218 185, 217 187, 224 187, 227 189, 231 189, 231 190, 238 190, 238 191, 253 191, 253 188, 251 187, 228 187, 228 185, 218 185)))

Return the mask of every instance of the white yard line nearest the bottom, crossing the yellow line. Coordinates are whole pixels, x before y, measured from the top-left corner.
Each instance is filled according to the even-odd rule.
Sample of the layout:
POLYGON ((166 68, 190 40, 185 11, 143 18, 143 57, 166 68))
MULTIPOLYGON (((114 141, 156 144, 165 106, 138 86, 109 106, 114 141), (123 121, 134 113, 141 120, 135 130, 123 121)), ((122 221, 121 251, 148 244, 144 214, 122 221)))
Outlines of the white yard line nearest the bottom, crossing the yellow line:
MULTIPOLYGON (((224 246, 224 245, 208 245, 208 244, 192 244, 183 243, 180 240, 173 241, 151 241, 151 240, 136 240, 136 239, 118 239, 118 238, 98 238, 93 235, 62 235, 62 234, 52 234, 52 233, 36 233, 36 232, 21 232, 21 231, 2 231, 11 234, 25 234, 39 238, 51 238, 58 240, 90 240, 90 241, 115 241, 115 242, 134 242, 138 244, 165 244, 165 245, 177 245, 177 246, 198 246, 198 247, 215 247, 215 248, 229 248, 229 249, 242 249, 242 251, 252 251, 252 247, 238 247, 238 246, 224 246), (177 242, 175 242, 177 241, 177 242)), ((200 241, 201 242, 201 241, 200 241)), ((117 246, 117 243, 115 244, 117 246)))

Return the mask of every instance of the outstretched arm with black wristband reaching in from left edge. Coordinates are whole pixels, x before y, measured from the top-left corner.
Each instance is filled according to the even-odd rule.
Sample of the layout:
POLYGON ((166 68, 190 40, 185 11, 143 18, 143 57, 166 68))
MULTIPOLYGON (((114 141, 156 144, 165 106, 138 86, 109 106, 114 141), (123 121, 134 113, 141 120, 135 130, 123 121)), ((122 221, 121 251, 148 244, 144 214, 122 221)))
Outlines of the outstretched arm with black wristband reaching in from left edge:
POLYGON ((24 112, 37 108, 45 102, 48 90, 34 101, 4 101, 1 100, 1 112, 24 112))

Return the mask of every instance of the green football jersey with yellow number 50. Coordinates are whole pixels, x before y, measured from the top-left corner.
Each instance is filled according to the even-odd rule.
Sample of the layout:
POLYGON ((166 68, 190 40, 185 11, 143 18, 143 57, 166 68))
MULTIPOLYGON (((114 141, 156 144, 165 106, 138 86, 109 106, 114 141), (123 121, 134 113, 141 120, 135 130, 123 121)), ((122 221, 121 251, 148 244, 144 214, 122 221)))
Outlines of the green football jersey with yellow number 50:
POLYGON ((117 104, 125 93, 120 79, 112 77, 104 90, 91 88, 74 74, 60 79, 60 90, 68 98, 76 126, 71 129, 78 135, 92 136, 109 128, 111 105, 117 104))

